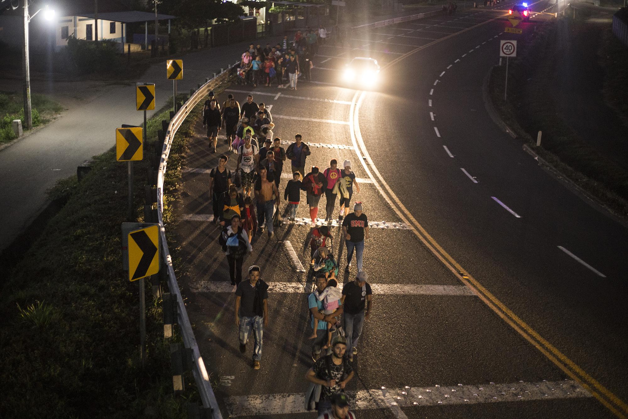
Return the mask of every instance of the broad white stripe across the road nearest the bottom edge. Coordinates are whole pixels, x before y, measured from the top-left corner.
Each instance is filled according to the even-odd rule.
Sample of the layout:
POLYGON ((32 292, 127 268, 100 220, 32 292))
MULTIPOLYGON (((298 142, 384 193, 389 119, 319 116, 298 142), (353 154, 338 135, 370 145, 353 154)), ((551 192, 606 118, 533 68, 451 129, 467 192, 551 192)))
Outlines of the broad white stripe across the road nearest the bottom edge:
MULTIPOLYGON (((373 290, 373 293, 375 291, 373 290)), ((440 406, 535 401, 591 397, 576 381, 539 381, 538 383, 498 383, 457 386, 377 388, 347 391, 351 410, 374 410, 384 406, 440 406), (382 391, 385 390, 385 391, 382 391)), ((307 413, 304 393, 251 394, 225 398, 230 417, 261 417, 307 413)))

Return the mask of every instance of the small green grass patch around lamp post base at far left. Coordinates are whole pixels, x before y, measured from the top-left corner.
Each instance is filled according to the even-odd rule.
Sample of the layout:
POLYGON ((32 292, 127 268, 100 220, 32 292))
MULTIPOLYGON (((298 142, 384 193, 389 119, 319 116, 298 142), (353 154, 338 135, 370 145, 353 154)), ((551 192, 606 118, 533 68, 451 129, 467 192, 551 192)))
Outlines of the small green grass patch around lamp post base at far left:
MULTIPOLYGON (((33 127, 46 124, 57 118, 63 106, 43 94, 31 96, 33 127)), ((22 120, 24 126, 23 96, 15 92, 0 92, 0 144, 13 141, 16 137, 11 122, 22 120)))

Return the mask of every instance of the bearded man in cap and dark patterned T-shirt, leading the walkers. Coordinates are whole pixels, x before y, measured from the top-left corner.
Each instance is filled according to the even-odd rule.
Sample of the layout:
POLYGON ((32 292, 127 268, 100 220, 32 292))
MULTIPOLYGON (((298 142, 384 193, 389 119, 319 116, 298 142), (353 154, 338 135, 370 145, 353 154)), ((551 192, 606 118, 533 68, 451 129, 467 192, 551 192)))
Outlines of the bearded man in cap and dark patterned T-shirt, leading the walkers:
POLYGON ((345 386, 354 377, 354 370, 345 358, 347 341, 342 335, 332 339, 332 353, 320 357, 305 373, 305 379, 322 386, 318 399, 318 415, 332 411, 332 401, 337 394, 345 394, 345 386))

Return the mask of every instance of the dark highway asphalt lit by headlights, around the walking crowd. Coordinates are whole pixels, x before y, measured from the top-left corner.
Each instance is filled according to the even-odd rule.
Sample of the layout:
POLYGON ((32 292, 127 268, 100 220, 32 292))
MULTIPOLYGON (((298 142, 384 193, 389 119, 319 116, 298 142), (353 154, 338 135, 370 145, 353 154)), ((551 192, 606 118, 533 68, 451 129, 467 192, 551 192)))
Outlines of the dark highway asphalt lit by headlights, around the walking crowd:
MULTIPOLYGON (((350 48, 364 50, 321 48, 315 82, 300 81, 296 91, 230 87, 241 103, 253 91, 254 100, 272 105, 274 133, 284 142, 301 133, 305 142, 325 145, 312 147, 307 167, 351 160, 356 176, 366 180, 353 200, 364 203, 369 221, 402 223, 373 228, 365 245, 365 270, 379 291, 358 346, 357 377, 348 387, 358 392, 353 406, 360 418, 614 417, 580 387, 594 388, 593 379, 608 392, 592 391, 626 414, 621 402, 609 402, 610 393, 628 399, 626 230, 544 172, 487 113, 485 76, 499 60, 499 40, 513 39, 503 33, 506 6, 459 6, 453 16, 355 33, 350 48), (336 58, 340 53, 344 57, 336 58), (364 97, 338 87, 338 69, 350 55, 380 60, 384 86, 364 97), (529 330, 521 331, 512 316, 504 321, 504 308, 494 311, 495 304, 468 293, 443 252, 421 242, 426 235, 419 225, 529 330), (562 357, 539 345, 539 338, 526 340, 532 332, 562 357), (578 367, 583 374, 574 373, 582 371, 578 367), (587 374, 591 379, 583 378, 587 374), (572 384, 571 391, 561 389, 572 384), (534 396, 539 389, 546 391, 534 396)), ((553 7, 542 1, 533 10, 553 7)), ((535 18, 524 30, 534 30, 535 18)), ((311 279, 297 272, 300 265, 286 250, 290 242, 307 269, 310 228, 286 225, 272 239, 257 237, 244 262, 260 265, 261 277, 271 282, 262 367, 254 371, 250 353, 243 357, 237 350, 220 230, 203 221, 212 213, 206 170, 215 167, 218 154, 210 154, 202 126, 196 128, 177 209, 184 220, 176 226, 183 262, 178 279, 222 413, 313 417, 299 403, 312 363, 306 324, 311 279)), ((219 154, 226 148, 221 143, 219 154)), ((234 169, 236 155, 229 156, 234 169)), ((284 165, 284 174, 289 169, 284 165)), ((285 184, 284 178, 282 192, 285 184)), ((302 199, 298 217, 306 218, 305 194, 302 199)), ((332 232, 334 254, 344 266, 338 227, 332 232)), ((350 281, 355 265, 341 276, 350 281)))

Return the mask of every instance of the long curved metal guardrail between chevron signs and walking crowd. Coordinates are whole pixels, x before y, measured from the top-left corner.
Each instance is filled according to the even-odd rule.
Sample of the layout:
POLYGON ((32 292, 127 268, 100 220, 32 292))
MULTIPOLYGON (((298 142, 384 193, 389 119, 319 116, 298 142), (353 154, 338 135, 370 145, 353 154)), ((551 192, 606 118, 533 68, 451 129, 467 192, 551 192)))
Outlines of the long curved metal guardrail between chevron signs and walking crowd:
POLYGON ((197 383, 198 393, 203 402, 204 408, 210 408, 212 410, 212 419, 222 419, 220 409, 216 398, 214 396, 214 390, 212 384, 209 381, 209 375, 207 369, 205 369, 205 362, 198 350, 197 340, 190 324, 190 318, 185 310, 185 304, 181 297, 181 291, 179 284, 176 282, 175 270, 172 265, 172 257, 170 250, 168 249, 168 242, 166 242, 166 230, 163 225, 163 180, 166 173, 166 167, 168 165, 168 155, 170 155, 170 147, 172 146, 172 140, 175 137, 176 131, 179 129, 185 118, 190 114, 192 109, 212 90, 217 86, 224 83, 235 74, 236 68, 239 66, 239 62, 232 65, 228 69, 216 75, 209 81, 205 82, 197 91, 195 91, 190 99, 188 99, 183 106, 173 116, 170 124, 168 125, 168 131, 166 131, 165 140, 163 142, 163 148, 161 150, 160 165, 157 172, 157 215, 160 224, 161 235, 161 250, 164 260, 164 265, 168 274, 168 288, 173 296, 176 296, 177 307, 177 321, 183 336, 183 344, 185 347, 192 350, 192 372, 194 379, 197 383))

